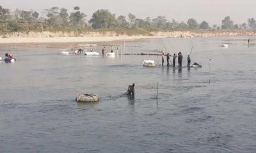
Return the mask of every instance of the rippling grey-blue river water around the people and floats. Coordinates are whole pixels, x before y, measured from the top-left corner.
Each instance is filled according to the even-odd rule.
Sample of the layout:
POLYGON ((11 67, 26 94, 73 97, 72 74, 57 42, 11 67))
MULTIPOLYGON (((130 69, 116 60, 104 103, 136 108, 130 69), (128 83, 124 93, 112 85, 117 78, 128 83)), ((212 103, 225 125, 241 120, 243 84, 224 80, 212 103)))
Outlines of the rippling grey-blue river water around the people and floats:
POLYGON ((247 39, 93 47, 120 45, 121 54, 156 53, 165 45, 170 54, 183 53, 185 66, 193 47, 192 62, 203 67, 191 69, 144 68, 143 59, 161 62, 149 55, 60 54, 70 44, 2 45, 1 57, 11 52, 17 62, 0 63, 0 152, 255 152, 256 37, 250 47, 247 39), (122 96, 133 82, 135 98, 122 96), (86 92, 100 102, 76 103, 76 94, 86 92))

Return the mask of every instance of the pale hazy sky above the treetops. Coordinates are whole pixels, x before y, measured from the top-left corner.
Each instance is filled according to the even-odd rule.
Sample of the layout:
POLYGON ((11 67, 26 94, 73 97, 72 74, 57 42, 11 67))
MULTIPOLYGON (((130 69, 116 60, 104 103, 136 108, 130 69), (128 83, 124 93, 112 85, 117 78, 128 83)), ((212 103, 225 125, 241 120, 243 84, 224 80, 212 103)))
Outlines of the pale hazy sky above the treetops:
POLYGON ((15 10, 36 10, 58 6, 71 11, 80 6, 88 15, 99 9, 108 9, 118 15, 135 14, 138 18, 164 15, 168 20, 184 20, 195 18, 198 22, 206 20, 210 24, 221 24, 227 15, 237 24, 246 22, 248 18, 256 18, 256 0, 0 0, 0 5, 15 10))

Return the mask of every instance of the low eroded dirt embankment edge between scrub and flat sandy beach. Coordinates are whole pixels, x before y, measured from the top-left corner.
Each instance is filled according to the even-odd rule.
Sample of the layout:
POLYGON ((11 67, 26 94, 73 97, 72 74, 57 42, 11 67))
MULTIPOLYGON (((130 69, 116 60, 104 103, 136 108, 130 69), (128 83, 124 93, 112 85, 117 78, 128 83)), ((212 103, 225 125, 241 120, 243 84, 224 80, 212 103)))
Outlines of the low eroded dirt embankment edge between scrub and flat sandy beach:
MULTIPOLYGON (((253 36, 255 31, 171 31, 171 32, 151 32, 150 34, 132 34, 132 36, 163 36, 163 37, 205 37, 205 36, 253 36)), ((118 34, 109 32, 28 32, 2 34, 0 38, 53 38, 53 37, 103 37, 103 36, 131 36, 130 34, 118 34)))

